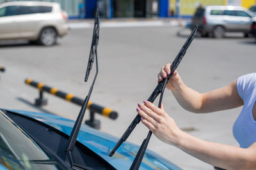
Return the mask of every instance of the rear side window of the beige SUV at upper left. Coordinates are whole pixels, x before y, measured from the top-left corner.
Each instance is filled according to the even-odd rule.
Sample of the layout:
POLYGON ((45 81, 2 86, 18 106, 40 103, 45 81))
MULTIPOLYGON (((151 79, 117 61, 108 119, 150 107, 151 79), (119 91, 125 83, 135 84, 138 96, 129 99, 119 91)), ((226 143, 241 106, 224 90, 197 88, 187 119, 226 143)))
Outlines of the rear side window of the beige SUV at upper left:
POLYGON ((19 6, 18 15, 26 15, 32 13, 48 13, 52 11, 51 6, 19 6))

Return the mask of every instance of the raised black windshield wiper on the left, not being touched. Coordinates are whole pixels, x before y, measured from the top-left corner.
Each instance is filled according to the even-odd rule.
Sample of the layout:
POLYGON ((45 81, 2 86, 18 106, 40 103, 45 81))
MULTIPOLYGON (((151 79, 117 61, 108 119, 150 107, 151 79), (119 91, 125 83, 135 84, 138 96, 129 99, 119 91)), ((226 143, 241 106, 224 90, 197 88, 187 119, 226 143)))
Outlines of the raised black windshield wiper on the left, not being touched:
POLYGON ((75 125, 72 129, 72 132, 71 132, 71 134, 68 138, 68 142, 67 142, 67 150, 66 150, 67 157, 68 157, 68 159, 70 161, 70 164, 71 164, 71 167, 73 169, 79 169, 79 168, 92 169, 91 167, 77 165, 75 160, 74 160, 74 156, 72 155, 72 152, 73 152, 74 146, 76 144, 76 139, 77 139, 77 136, 78 136, 78 132, 79 132, 79 129, 81 127, 83 117, 84 117, 84 113, 85 113, 86 108, 88 106, 88 101, 89 101, 90 96, 92 94, 93 86, 94 86, 94 83, 95 83, 95 80, 96 80, 97 74, 98 74, 97 46, 98 46, 98 43, 99 43, 99 29, 100 29, 99 28, 99 11, 97 10, 96 15, 95 15, 95 20, 94 20, 94 27, 93 27, 92 46, 91 46, 91 49, 90 49, 90 55, 89 55, 89 59, 88 59, 88 66, 87 66, 87 69, 86 69, 86 76, 85 76, 84 81, 88 80, 88 76, 90 74, 90 70, 92 69, 94 59, 95 59, 95 62, 96 62, 96 73, 95 73, 95 76, 93 78, 93 82, 92 82, 92 85, 91 85, 90 90, 88 92, 88 95, 84 99, 83 105, 81 107, 81 110, 79 112, 79 115, 77 117, 75 125))

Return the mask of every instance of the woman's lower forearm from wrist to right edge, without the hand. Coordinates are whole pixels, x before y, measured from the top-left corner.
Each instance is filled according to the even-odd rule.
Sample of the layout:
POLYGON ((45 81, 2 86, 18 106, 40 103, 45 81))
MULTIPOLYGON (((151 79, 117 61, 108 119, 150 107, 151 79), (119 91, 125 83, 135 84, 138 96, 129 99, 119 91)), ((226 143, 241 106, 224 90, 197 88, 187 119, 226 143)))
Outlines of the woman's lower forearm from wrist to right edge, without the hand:
POLYGON ((180 132, 173 145, 197 159, 224 169, 256 169, 256 143, 249 148, 212 143, 180 132))

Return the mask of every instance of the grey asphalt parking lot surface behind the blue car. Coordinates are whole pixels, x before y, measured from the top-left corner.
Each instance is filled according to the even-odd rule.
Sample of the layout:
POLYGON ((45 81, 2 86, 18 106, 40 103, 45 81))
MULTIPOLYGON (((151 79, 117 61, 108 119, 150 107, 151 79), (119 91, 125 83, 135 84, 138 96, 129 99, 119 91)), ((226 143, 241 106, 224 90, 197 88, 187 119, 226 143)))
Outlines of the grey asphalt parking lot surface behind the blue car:
MULTIPOLYGON (((36 108, 33 104, 39 92, 24 81, 32 78, 74 96, 86 97, 95 73, 93 65, 89 81, 84 82, 92 42, 91 23, 72 27, 67 36, 58 40, 58 45, 51 47, 29 45, 26 41, 1 41, 0 66, 6 71, 0 72, 0 107, 51 113, 75 120, 79 106, 49 94, 44 94, 48 104, 36 108)), ((173 61, 188 35, 188 30, 175 24, 100 28, 99 74, 90 101, 118 111, 116 120, 96 116, 101 122, 100 131, 120 138, 136 116, 137 103, 148 99, 156 87, 161 66, 173 61)), ((255 46, 254 39, 243 38, 243 34, 227 34, 223 39, 196 37, 177 70, 186 85, 207 92, 243 74, 255 72, 255 46)), ((207 141, 237 146, 232 125, 241 108, 196 115, 182 109, 167 90, 163 104, 164 110, 183 131, 207 141)), ((88 113, 84 120, 88 119, 88 113)), ((128 141, 141 145, 147 132, 139 124, 128 141)), ((213 169, 155 136, 148 149, 182 169, 213 169)))

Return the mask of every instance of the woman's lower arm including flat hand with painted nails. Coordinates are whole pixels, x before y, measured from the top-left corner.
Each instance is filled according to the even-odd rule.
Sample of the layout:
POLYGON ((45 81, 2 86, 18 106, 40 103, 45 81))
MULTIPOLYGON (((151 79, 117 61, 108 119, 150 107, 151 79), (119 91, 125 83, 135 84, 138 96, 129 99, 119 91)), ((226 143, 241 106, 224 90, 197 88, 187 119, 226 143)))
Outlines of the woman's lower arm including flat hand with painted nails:
POLYGON ((213 166, 225 169, 256 169, 256 142, 244 149, 204 141, 181 131, 173 118, 164 111, 163 104, 161 108, 148 101, 144 101, 144 104, 139 103, 136 109, 142 118, 141 122, 161 141, 213 166))

